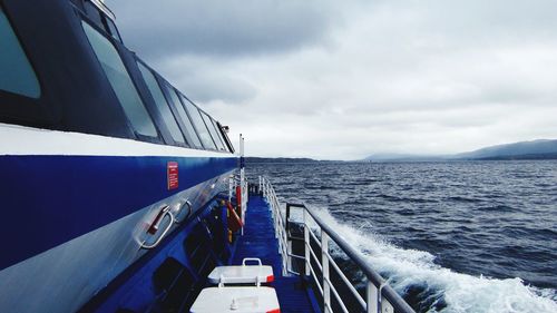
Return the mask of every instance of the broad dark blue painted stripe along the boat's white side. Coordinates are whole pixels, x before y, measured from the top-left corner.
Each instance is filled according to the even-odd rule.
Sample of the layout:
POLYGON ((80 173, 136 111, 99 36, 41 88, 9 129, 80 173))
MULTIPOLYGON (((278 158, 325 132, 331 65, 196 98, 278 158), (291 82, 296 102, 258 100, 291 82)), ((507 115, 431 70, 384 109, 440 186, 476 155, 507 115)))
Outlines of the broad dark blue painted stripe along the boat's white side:
POLYGON ((234 157, 0 156, 0 271, 227 173, 236 163, 234 157), (167 162, 178 163, 179 187, 173 190, 167 162))

